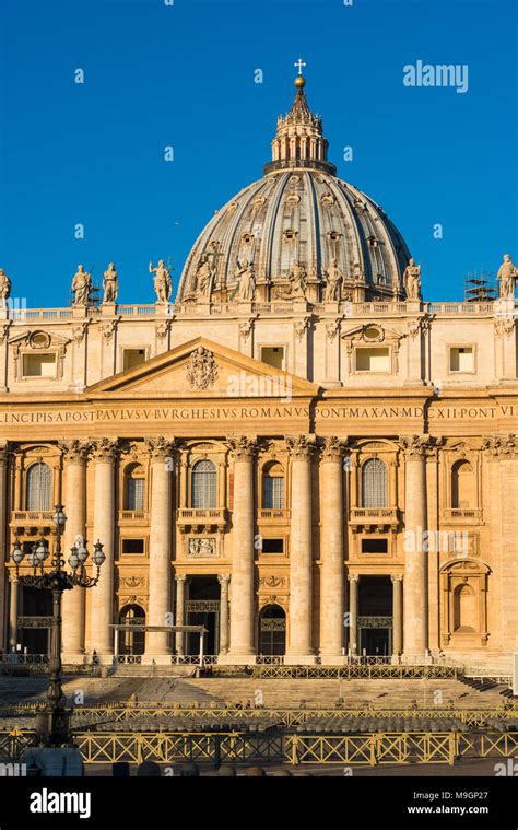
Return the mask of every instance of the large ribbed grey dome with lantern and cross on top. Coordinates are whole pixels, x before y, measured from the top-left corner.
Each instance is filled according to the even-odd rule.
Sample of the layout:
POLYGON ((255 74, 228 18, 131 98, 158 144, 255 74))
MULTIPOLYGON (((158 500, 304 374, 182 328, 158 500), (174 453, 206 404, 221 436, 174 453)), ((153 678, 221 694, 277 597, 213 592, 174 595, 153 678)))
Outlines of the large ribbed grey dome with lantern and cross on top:
POLYGON ((309 110, 304 83, 296 87, 263 177, 204 227, 177 302, 404 297, 410 253, 402 236, 382 208, 337 177, 321 119, 309 110))

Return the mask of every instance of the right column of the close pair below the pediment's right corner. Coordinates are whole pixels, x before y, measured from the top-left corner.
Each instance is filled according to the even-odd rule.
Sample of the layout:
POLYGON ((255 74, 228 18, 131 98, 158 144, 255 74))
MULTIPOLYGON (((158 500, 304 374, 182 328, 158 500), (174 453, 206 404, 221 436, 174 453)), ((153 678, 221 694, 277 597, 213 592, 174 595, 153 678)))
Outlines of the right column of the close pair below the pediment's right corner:
POLYGON ((343 663, 342 482, 342 445, 338 439, 329 437, 320 456, 320 655, 323 665, 343 663))

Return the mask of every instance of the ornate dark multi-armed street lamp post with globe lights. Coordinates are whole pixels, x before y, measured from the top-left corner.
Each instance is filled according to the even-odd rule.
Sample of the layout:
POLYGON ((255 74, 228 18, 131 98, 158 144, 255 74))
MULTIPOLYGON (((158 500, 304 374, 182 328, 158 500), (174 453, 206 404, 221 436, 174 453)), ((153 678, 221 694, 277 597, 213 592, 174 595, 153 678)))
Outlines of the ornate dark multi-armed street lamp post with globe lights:
POLYGON ((90 556, 86 549, 86 540, 78 541, 70 549, 68 563, 71 571, 64 570, 64 560, 61 559, 61 536, 67 516, 63 512, 63 505, 60 503, 55 507, 52 522, 56 525, 56 547, 50 562, 51 570, 45 570, 45 562, 49 557, 49 547, 44 538, 34 542, 32 551, 28 554, 28 561, 33 566, 32 574, 20 575, 20 565, 25 558, 25 552, 22 550, 20 541, 16 540, 11 552, 11 559, 16 566, 16 578, 20 580, 20 583, 33 588, 50 591, 52 594, 52 628, 47 702, 45 709, 36 716, 35 730, 36 741, 46 747, 70 746, 72 744, 70 710, 66 706, 61 686, 62 595, 64 591, 71 591, 76 586, 93 588, 94 585, 97 585, 101 576, 101 565, 106 559, 103 553, 103 545, 96 541, 92 561, 97 569, 97 573, 95 576, 89 576, 85 570, 85 562, 90 556))

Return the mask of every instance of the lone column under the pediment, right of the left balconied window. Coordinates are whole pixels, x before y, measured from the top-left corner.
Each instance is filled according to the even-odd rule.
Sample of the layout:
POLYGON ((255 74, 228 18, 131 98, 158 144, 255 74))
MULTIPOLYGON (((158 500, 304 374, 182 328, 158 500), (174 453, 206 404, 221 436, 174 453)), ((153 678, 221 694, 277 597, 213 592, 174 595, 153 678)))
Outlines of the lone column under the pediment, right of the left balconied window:
POLYGON ((255 663, 254 451, 255 439, 229 439, 234 459, 231 647, 225 663, 255 663))

